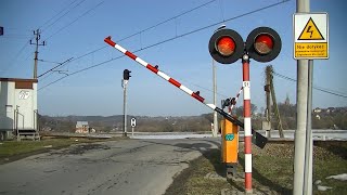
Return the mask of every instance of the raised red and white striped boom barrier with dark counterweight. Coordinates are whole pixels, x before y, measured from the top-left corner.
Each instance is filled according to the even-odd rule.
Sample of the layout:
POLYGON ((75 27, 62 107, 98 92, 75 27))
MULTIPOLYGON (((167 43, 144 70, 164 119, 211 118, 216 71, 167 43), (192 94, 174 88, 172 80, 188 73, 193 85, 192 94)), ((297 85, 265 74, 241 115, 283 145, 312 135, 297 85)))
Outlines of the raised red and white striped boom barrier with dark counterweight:
MULTIPOLYGON (((240 126, 241 128, 244 128, 244 123, 242 121, 240 121, 239 119, 234 118, 233 116, 229 115, 228 113, 223 112, 221 108, 217 107, 215 104, 209 104, 205 101, 204 98, 202 98, 200 95, 200 92, 194 92, 191 89, 187 88, 185 86, 181 84, 179 81, 175 80, 174 78, 171 78, 170 76, 166 75, 165 73, 160 72, 158 69, 158 67, 152 66, 151 64, 149 64, 147 62, 143 61, 142 58, 138 57, 137 55, 134 55, 133 53, 131 53, 130 51, 126 50, 125 48, 123 48, 121 46, 115 43, 113 40, 111 40, 111 37, 106 37, 104 39, 104 41, 106 43, 108 43, 111 47, 117 49, 118 51, 120 51, 121 53, 124 53, 125 55, 127 55, 128 57, 132 58, 133 61, 136 61, 137 63, 139 63, 140 65, 144 66, 145 68, 147 68, 149 70, 151 70, 152 73, 156 74, 157 76, 162 77, 163 79, 167 80, 168 82, 170 82, 171 84, 176 86, 177 88, 179 88, 180 90, 182 90, 183 92, 185 92, 187 94, 189 94, 190 96, 194 98, 195 100, 197 100, 198 102, 205 104, 207 107, 209 107, 213 110, 216 110, 217 113, 219 113, 221 116, 223 116, 227 120, 236 123, 237 126, 240 126)), ((257 145, 258 147, 262 148, 266 143, 268 142, 268 139, 262 136, 260 133, 256 132, 254 129, 252 129, 252 133, 254 133, 253 135, 253 143, 255 145, 257 145)))

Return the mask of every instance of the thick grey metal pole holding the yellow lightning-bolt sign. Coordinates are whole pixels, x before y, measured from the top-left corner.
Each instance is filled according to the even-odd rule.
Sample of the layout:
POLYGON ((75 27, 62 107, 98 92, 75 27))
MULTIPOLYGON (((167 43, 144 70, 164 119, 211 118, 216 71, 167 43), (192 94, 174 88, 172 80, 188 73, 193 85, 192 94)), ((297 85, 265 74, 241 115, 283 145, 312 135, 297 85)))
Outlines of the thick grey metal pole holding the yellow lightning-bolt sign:
MULTIPOLYGON (((310 12, 310 0, 296 0, 296 12, 310 12)), ((308 125, 308 68, 309 60, 297 61, 297 92, 296 92, 296 131, 295 131, 295 155, 294 155, 294 187, 293 194, 304 195, 304 164, 305 164, 305 146, 306 146, 306 128, 308 125)), ((310 185, 312 182, 308 182, 310 185)), ((312 194, 312 193, 311 193, 312 194)))

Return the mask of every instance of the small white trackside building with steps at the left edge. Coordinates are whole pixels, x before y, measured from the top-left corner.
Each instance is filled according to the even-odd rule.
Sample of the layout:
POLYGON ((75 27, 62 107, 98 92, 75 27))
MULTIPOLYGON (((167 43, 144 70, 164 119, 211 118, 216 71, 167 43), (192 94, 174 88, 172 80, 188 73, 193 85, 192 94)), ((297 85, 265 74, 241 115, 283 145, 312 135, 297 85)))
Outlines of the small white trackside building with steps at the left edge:
POLYGON ((0 78, 0 132, 38 136, 37 79, 0 78))

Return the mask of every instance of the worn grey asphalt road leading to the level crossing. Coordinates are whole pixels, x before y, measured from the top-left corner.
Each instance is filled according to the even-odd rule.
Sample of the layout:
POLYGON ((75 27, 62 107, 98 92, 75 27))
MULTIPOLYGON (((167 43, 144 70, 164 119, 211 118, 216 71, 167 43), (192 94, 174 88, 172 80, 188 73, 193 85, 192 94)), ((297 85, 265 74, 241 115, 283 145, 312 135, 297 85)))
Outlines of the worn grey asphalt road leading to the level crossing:
POLYGON ((219 139, 79 144, 0 166, 0 194, 164 194, 219 139))

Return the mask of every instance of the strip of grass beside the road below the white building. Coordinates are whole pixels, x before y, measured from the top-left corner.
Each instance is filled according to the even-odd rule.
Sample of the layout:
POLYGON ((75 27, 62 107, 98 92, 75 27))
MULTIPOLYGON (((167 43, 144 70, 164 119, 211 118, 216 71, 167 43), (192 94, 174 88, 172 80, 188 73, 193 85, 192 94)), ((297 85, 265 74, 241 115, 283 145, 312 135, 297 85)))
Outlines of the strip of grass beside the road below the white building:
MULTIPOLYGON (((114 140, 114 139, 113 139, 114 140)), ((41 139, 41 141, 4 141, 0 142, 0 165, 17 160, 30 155, 63 148, 78 143, 94 143, 106 140, 88 139, 41 139), (78 140, 78 141, 76 141, 78 140)), ((110 141, 110 139, 107 140, 110 141)))

